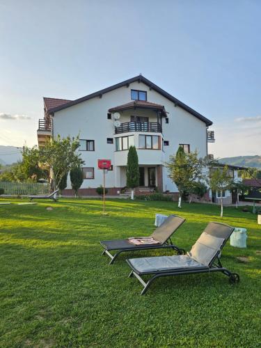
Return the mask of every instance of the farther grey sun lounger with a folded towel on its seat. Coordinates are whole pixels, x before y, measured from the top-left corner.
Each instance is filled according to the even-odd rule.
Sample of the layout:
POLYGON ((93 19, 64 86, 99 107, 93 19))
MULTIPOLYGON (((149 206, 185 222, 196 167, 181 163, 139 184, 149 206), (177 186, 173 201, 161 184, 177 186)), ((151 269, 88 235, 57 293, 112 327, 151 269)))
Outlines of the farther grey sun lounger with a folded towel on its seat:
POLYGON ((179 228, 182 223, 184 223, 185 219, 182 219, 180 216, 176 215, 170 215, 168 218, 164 221, 164 223, 161 224, 156 230, 150 235, 150 237, 153 237, 157 241, 159 241, 159 244, 143 244, 143 245, 134 245, 131 242, 129 242, 128 239, 114 239, 114 240, 104 240, 100 242, 102 247, 104 248, 104 251, 102 252, 102 255, 106 254, 111 258, 111 261, 109 264, 112 264, 115 259, 120 255, 122 252, 127 251, 141 251, 141 250, 148 250, 148 249, 162 249, 162 248, 172 248, 180 255, 182 253, 185 253, 184 249, 178 248, 177 246, 173 245, 171 241, 171 236, 173 233, 179 228), (114 255, 110 253, 110 251, 116 251, 114 255))

